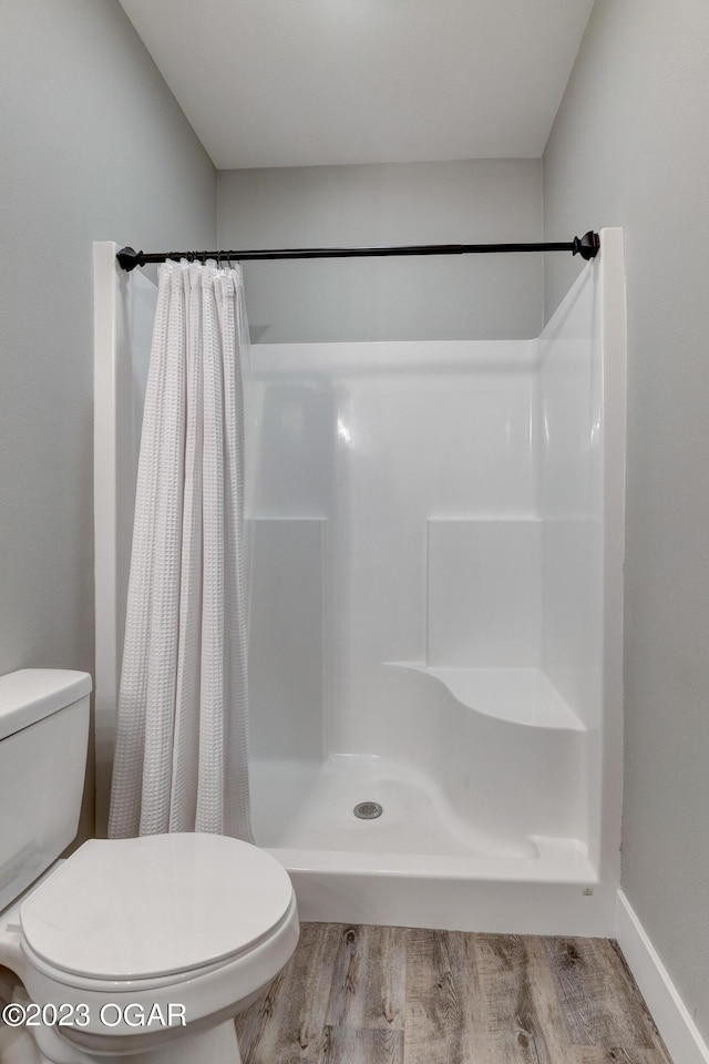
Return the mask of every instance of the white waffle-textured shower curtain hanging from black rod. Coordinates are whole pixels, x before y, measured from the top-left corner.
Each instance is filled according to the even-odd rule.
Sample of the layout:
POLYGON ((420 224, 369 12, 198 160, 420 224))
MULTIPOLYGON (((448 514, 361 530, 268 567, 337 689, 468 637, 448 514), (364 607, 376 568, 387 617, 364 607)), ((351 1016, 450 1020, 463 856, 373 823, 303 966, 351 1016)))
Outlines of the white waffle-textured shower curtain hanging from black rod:
POLYGON ((109 836, 251 840, 240 268, 166 262, 143 417, 109 836))

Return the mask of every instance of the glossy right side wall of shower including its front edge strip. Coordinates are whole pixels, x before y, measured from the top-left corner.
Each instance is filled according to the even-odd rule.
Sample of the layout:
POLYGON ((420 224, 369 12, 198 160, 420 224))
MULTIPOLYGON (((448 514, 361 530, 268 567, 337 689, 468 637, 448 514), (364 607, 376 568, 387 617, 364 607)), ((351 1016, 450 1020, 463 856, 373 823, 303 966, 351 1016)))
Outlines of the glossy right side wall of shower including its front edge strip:
POLYGON ((619 871, 623 776, 625 278, 623 232, 602 231, 540 337, 542 665, 588 735, 586 838, 619 871))

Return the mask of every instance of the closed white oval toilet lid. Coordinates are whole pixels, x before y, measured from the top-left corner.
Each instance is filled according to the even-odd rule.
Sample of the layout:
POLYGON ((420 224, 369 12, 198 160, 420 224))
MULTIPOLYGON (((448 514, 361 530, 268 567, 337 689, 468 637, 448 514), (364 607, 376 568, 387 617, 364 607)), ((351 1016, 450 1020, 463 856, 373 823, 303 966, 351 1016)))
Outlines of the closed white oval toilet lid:
POLYGON ((148 979, 255 947, 285 918, 278 861, 218 835, 92 839, 20 909, 30 949, 64 972, 148 979))

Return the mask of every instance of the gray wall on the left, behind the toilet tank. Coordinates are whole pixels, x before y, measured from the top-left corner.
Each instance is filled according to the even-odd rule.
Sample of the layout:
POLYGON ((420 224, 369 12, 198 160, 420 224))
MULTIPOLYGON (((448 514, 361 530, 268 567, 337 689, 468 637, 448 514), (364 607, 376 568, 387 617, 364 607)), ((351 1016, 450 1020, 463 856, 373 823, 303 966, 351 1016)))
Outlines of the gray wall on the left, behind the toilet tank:
POLYGON ((209 246, 216 178, 117 0, 0 18, 0 673, 92 672, 92 241, 209 246))

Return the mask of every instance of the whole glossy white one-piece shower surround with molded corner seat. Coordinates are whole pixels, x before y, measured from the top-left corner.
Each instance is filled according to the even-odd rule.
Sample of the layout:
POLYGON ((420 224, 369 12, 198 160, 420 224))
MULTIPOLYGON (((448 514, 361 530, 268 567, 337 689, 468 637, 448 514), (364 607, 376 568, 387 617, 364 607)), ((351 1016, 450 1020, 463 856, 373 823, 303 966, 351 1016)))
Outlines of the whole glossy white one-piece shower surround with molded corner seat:
MULTIPOLYGON (((125 307, 133 282, 101 247, 125 307)), ((253 348, 254 829, 291 872, 302 919, 613 933, 624 360, 617 229, 537 340, 253 348), (382 817, 357 820, 362 800, 382 817)), ((111 401, 101 372, 97 403, 111 401)), ((96 477, 110 480, 104 413, 96 477)), ((113 432, 135 428, 117 415, 113 432)), ((117 520, 97 493, 104 591, 117 520)))

